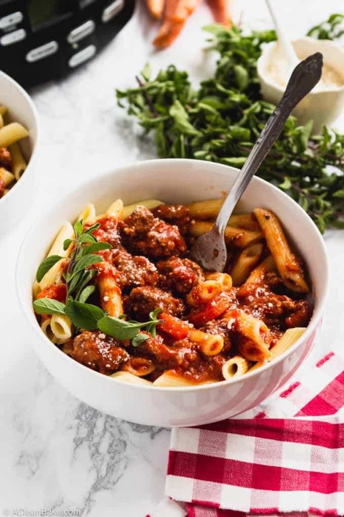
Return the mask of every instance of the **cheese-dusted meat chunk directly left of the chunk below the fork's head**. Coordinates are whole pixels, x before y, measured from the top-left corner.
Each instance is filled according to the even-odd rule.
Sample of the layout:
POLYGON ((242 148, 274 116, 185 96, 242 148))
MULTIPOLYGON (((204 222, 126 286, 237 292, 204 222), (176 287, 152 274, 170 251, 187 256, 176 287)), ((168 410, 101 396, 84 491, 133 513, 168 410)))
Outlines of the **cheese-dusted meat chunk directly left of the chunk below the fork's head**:
POLYGON ((124 249, 104 250, 99 254, 116 267, 117 281, 122 291, 140 285, 156 285, 158 282, 158 271, 146 257, 130 255, 124 249))

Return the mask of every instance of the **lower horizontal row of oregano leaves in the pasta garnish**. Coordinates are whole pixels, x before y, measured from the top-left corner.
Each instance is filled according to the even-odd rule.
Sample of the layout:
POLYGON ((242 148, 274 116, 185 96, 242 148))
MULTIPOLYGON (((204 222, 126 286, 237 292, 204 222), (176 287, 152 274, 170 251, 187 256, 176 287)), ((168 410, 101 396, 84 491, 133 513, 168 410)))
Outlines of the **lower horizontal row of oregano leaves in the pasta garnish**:
POLYGON ((64 304, 50 298, 39 298, 33 305, 37 314, 65 314, 76 328, 101 330, 118 341, 132 340, 133 346, 138 346, 149 338, 148 334, 140 333, 141 330, 155 337, 156 326, 163 322, 158 319, 160 308, 150 313, 149 321, 137 322, 125 321, 124 314, 118 318, 109 316, 100 307, 77 300, 69 300, 64 304))

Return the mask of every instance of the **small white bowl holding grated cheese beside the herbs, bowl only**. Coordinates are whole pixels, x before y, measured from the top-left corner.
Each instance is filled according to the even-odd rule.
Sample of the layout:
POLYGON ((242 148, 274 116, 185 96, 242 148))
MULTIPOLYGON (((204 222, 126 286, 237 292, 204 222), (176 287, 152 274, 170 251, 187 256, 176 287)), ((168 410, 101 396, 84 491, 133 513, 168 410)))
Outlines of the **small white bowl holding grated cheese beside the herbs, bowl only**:
MULTIPOLYGON (((300 59, 310 54, 321 52, 324 64, 330 65, 344 77, 344 50, 330 40, 301 38, 292 41, 293 47, 300 59)), ((269 65, 276 59, 276 42, 264 45, 263 52, 257 62, 257 73, 261 86, 261 93, 265 100, 277 104, 285 88, 277 84, 267 72, 269 65)), ((310 92, 294 109, 293 115, 300 124, 313 120, 313 133, 319 133, 323 125, 331 127, 339 117, 344 107, 344 83, 332 89, 310 92)))

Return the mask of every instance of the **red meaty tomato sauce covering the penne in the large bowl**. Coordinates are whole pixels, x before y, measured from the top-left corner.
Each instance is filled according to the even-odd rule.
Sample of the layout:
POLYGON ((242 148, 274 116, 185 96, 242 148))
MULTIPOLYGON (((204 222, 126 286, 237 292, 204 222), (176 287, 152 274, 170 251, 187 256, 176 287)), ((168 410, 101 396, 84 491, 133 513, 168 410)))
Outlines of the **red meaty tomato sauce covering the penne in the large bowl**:
MULTIPOLYGON (((243 220, 257 226, 260 240, 254 245, 258 252, 252 268, 259 275, 254 270, 249 275, 248 269, 244 283, 232 285, 231 270, 243 253, 235 242, 227 244, 230 259, 224 273, 204 271, 191 260, 198 205, 192 205, 192 217, 183 205, 159 205, 152 211, 138 205, 125 219, 97 218, 100 226, 93 235, 112 248, 97 251, 103 262, 90 266, 96 269, 91 303, 110 316, 123 312, 136 322, 147 321, 160 309, 160 323, 154 332, 141 331, 138 343, 76 329, 72 339, 57 346, 102 374, 126 372, 151 382, 164 374, 161 379, 175 376, 192 385, 247 373, 256 361, 276 355, 271 351, 286 330, 307 326, 312 315, 308 302, 284 284, 277 268, 259 269, 271 242, 267 246, 254 215, 243 220)), ((205 213, 199 221, 204 222, 205 213)), ((252 239, 245 237, 252 230, 239 230, 241 243, 247 240, 252 248, 252 239)), ((45 296, 64 301, 64 284, 47 286, 38 298, 45 296)))

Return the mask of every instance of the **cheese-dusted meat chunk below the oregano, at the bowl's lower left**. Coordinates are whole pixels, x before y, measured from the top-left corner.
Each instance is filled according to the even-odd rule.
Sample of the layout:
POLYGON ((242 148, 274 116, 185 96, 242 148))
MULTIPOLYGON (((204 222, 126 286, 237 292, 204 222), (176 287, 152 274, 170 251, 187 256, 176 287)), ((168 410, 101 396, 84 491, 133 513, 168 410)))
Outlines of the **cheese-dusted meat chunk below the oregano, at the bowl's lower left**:
POLYGON ((101 373, 116 372, 129 357, 118 341, 98 331, 85 331, 69 345, 73 359, 101 373))

